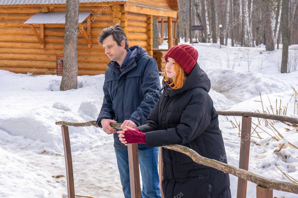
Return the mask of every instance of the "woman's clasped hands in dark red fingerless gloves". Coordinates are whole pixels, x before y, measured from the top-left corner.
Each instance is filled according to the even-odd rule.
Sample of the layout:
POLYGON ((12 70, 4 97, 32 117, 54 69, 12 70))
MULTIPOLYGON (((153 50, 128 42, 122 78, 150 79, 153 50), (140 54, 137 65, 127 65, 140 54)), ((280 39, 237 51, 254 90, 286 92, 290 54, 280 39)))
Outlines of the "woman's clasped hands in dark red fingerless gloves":
POLYGON ((127 126, 123 131, 118 131, 117 133, 119 134, 119 140, 125 146, 134 143, 146 144, 145 133, 140 132, 138 129, 133 129, 127 126))

